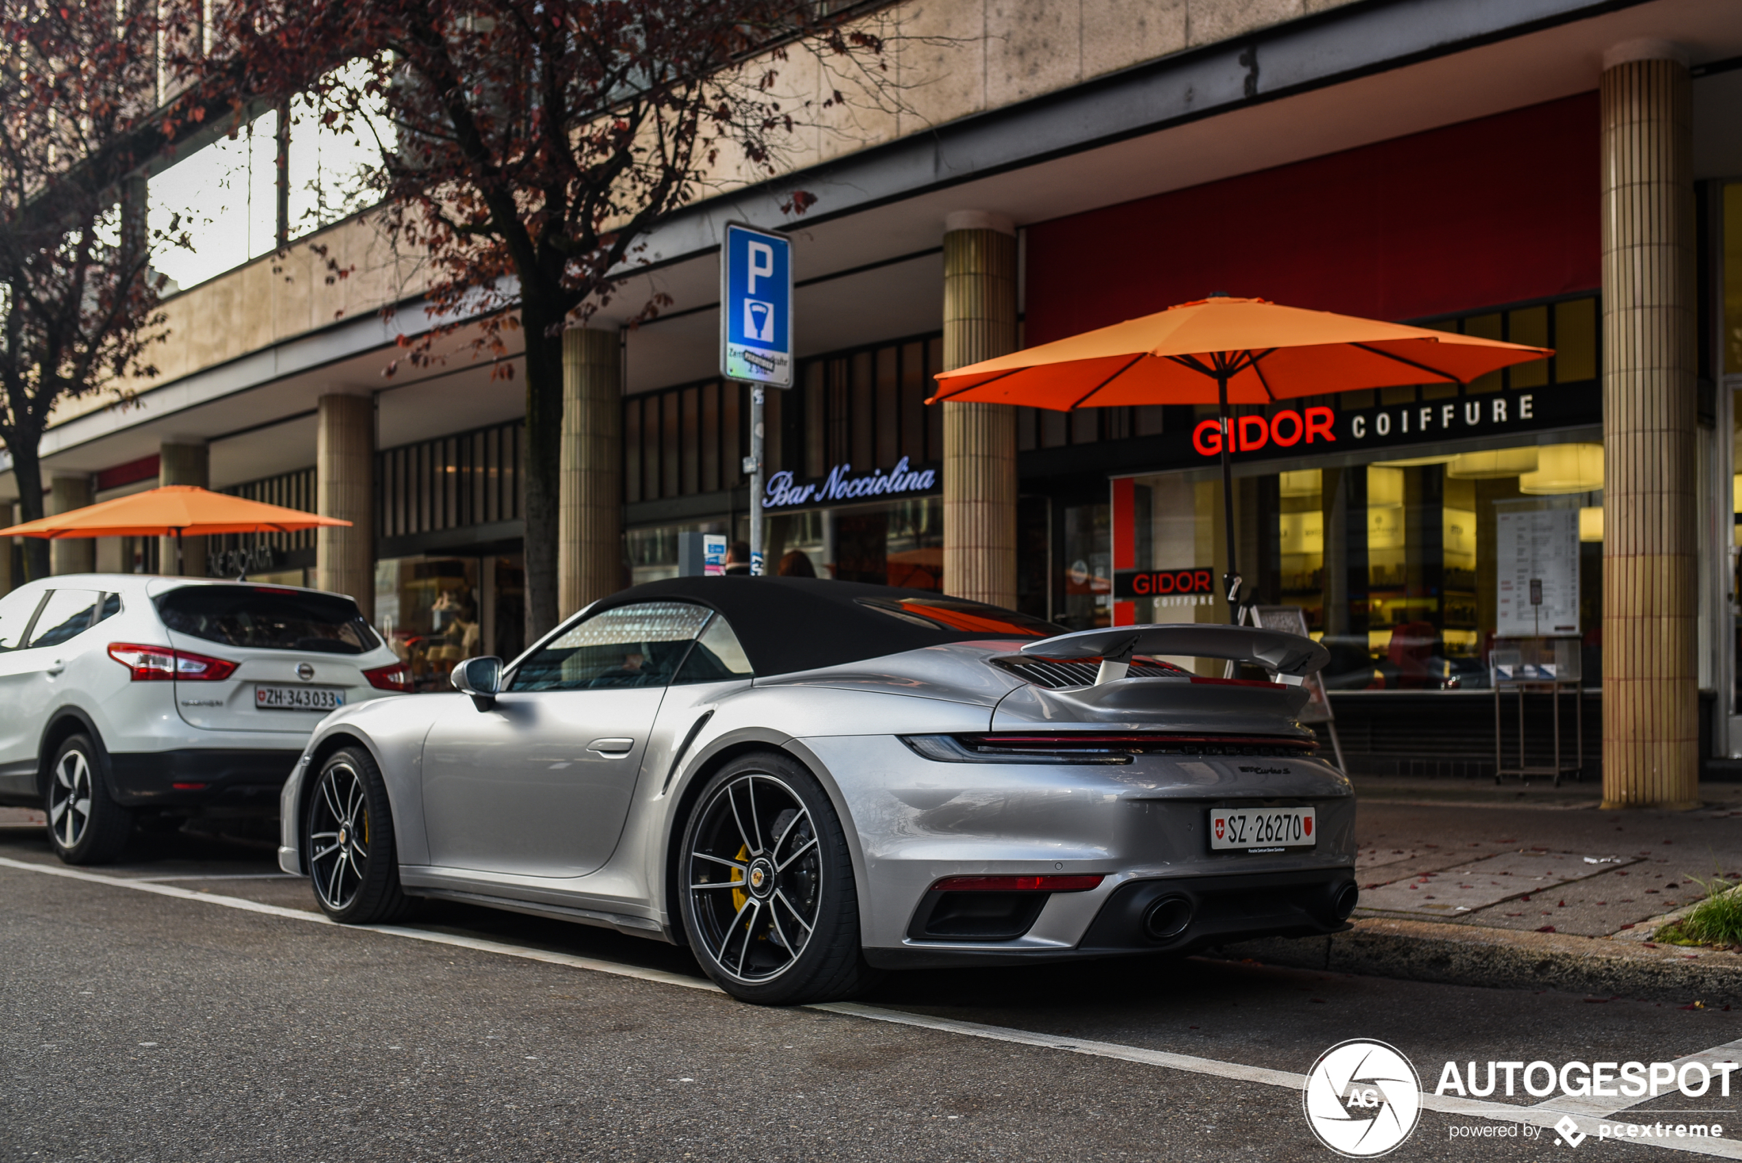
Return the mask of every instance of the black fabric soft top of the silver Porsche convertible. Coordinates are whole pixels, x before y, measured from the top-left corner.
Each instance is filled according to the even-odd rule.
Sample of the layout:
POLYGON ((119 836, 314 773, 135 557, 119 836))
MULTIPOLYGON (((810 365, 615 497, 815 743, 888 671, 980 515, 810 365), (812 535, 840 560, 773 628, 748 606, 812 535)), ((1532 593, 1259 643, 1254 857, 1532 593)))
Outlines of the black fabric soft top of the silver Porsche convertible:
POLYGON ((599 599, 589 613, 650 601, 718 609, 760 676, 838 667, 941 642, 1000 637, 1031 642, 1064 634, 1050 622, 998 606, 824 578, 667 578, 599 599))

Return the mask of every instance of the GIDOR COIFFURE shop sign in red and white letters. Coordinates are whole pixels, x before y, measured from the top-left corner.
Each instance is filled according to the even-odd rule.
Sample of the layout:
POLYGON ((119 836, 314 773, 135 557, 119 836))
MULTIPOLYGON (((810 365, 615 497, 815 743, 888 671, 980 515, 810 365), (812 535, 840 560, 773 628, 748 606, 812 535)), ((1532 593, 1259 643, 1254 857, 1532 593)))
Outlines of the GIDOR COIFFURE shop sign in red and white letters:
MULTIPOLYGON (((1575 385, 1359 411, 1313 406, 1282 407, 1270 416, 1235 416, 1228 451, 1237 460, 1265 460, 1601 423, 1603 393, 1596 385, 1575 385)), ((1169 465, 1221 456, 1221 423, 1214 418, 1200 420, 1190 434, 1172 432, 1157 439, 1167 447, 1169 465)))

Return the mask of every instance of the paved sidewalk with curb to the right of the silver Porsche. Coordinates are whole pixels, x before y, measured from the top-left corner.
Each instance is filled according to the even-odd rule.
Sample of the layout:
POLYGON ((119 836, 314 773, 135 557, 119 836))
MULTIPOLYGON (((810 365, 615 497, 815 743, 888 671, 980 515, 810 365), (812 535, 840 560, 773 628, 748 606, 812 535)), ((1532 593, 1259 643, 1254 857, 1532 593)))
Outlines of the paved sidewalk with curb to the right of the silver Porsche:
POLYGON ((1230 945, 1221 956, 1463 985, 1742 1003, 1742 956, 1657 945, 1742 881, 1742 785, 1702 783, 1693 811, 1601 811, 1596 782, 1355 780, 1354 930, 1230 945))

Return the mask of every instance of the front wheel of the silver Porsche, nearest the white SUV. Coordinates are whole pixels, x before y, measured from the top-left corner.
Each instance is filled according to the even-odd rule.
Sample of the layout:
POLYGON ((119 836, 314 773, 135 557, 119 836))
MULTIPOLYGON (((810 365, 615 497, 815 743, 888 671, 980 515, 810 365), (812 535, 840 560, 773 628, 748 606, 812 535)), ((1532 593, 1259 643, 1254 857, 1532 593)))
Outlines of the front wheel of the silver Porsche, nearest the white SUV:
POLYGON ((333 752, 303 803, 303 853, 321 911, 341 924, 402 918, 411 898, 399 888, 394 817, 375 757, 362 747, 333 752))

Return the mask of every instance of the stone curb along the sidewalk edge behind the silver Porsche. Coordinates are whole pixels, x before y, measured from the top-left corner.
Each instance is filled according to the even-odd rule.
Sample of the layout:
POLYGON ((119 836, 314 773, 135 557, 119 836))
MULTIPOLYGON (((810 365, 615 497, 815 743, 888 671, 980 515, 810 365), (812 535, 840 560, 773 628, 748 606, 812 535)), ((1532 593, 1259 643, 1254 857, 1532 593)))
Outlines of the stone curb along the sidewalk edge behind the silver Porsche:
MULTIPOLYGON (((1641 928, 1644 928, 1641 924, 1641 928)), ((1742 1001, 1742 956, 1606 937, 1369 918, 1331 937, 1268 937, 1204 956, 1488 989, 1559 989, 1643 1001, 1742 1001)))

